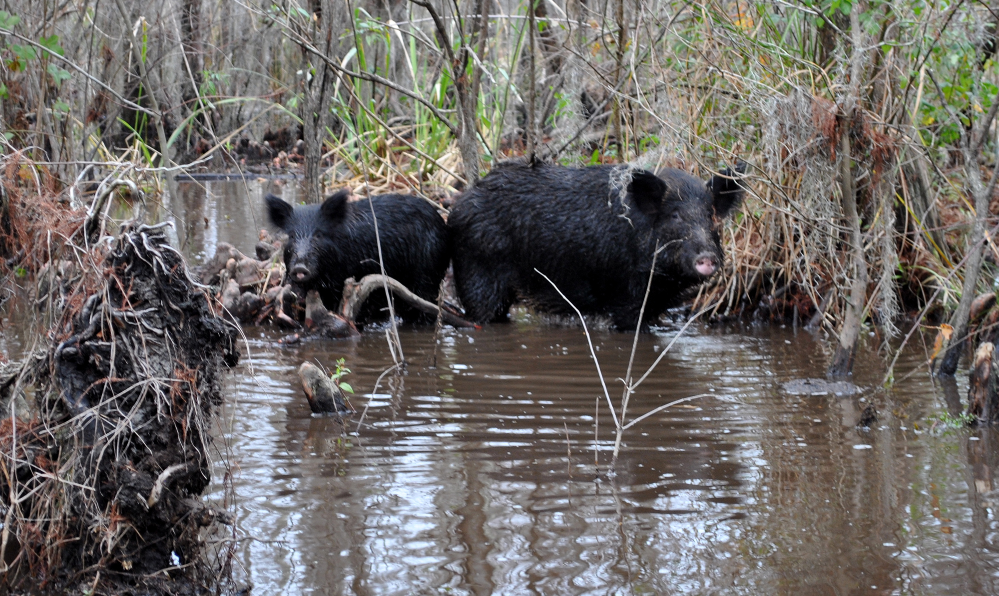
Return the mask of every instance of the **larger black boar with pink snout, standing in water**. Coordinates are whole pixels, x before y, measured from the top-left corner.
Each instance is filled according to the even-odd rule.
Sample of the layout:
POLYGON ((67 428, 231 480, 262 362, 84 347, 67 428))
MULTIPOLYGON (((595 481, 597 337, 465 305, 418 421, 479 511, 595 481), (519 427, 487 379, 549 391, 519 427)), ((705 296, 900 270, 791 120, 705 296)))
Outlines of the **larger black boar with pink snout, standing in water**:
POLYGON ((705 185, 673 169, 500 164, 449 217, 459 298, 476 321, 504 318, 516 298, 571 313, 536 268, 583 312, 633 329, 655 247, 645 321, 720 268, 716 222, 741 197, 728 170, 705 185))

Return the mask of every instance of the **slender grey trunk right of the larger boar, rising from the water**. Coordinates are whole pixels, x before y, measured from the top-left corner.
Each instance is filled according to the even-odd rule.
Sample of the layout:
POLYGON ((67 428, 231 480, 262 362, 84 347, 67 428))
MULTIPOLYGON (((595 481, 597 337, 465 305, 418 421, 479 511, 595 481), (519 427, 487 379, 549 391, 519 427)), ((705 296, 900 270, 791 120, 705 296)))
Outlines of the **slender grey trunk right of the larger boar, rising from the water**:
POLYGON ((853 280, 850 295, 846 298, 846 311, 839 331, 836 351, 829 365, 829 374, 839 376, 853 370, 853 356, 860 337, 864 307, 867 303, 867 260, 864 258, 864 243, 860 232, 860 216, 857 213, 857 195, 851 169, 850 130, 860 108, 860 78, 863 76, 863 32, 860 29, 859 7, 850 11, 850 87, 843 105, 843 122, 840 132, 840 190, 843 202, 843 216, 850 231, 850 254, 853 280))

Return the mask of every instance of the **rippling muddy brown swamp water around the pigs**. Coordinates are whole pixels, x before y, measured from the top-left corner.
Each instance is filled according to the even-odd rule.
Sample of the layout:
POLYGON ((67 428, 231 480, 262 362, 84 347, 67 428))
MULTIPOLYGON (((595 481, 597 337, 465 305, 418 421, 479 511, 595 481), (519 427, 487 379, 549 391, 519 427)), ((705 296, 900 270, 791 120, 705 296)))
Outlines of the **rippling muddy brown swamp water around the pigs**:
MULTIPOLYGON (((187 185, 175 209, 196 223, 180 226, 191 259, 218 242, 252 252, 272 184, 187 185)), ((677 330, 642 335, 636 369, 677 330)), ((580 328, 520 312, 437 342, 404 326, 408 371, 377 391, 392 363, 378 329, 294 347, 245 331, 220 433, 254 594, 999 593, 999 434, 940 419, 963 381, 923 371, 887 394, 789 394, 783 382, 822 375, 821 337, 691 325, 628 417, 709 396, 630 428, 611 474, 605 403, 594 467, 602 393, 580 328), (340 357, 360 426, 312 416, 298 381, 303 360, 340 357), (859 430, 868 402, 879 420, 859 430)), ((615 404, 631 340, 593 332, 615 404)), ((924 358, 914 346, 897 376, 924 358)), ((883 365, 865 348, 855 382, 876 385, 883 365)))

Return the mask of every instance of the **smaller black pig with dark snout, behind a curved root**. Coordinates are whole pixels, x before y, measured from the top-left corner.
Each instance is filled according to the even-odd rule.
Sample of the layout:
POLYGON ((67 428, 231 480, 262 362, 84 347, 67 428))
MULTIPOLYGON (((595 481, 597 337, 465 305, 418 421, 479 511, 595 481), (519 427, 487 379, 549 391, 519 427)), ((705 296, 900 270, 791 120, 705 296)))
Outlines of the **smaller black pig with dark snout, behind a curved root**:
MULTIPOLYGON (((434 206, 412 195, 380 195, 357 202, 349 202, 349 197, 350 192, 342 190, 322 205, 295 208, 280 197, 265 197, 271 223, 288 234, 289 280, 303 290, 317 290, 328 307, 336 308, 345 280, 381 273, 374 208, 386 275, 419 297, 437 301, 451 256, 447 226, 434 206)), ((407 318, 419 317, 405 307, 398 310, 407 318)))

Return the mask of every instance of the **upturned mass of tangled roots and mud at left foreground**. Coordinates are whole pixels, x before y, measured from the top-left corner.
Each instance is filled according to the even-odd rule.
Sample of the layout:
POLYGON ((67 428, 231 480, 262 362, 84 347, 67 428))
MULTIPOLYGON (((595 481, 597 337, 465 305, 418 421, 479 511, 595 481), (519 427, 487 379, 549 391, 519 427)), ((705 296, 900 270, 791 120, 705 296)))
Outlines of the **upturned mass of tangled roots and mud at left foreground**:
POLYGON ((200 495, 237 329, 162 228, 94 249, 101 267, 69 292, 85 298, 67 302, 47 353, 23 364, 38 413, 0 427, 8 589, 199 593, 229 565, 205 539, 231 520, 200 495))

